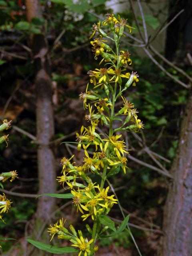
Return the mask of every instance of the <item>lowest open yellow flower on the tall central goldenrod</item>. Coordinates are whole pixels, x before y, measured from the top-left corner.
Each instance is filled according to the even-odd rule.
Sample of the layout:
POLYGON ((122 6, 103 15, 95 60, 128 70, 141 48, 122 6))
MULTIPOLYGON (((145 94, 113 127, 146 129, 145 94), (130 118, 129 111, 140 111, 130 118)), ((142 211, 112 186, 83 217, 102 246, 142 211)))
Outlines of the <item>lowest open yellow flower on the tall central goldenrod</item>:
POLYGON ((78 256, 87 256, 88 253, 90 253, 90 244, 93 242, 93 239, 88 241, 87 238, 83 238, 83 236, 80 236, 80 238, 73 238, 70 240, 73 244, 72 246, 78 247, 80 252, 78 256))

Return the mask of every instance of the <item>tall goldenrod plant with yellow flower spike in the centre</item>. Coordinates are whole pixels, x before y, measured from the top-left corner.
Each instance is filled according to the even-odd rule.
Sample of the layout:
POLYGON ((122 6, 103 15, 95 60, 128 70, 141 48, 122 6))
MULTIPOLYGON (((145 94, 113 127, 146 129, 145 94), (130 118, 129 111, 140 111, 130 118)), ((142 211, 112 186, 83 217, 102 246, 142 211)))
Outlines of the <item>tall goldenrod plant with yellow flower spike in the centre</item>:
MULTIPOLYGON (((69 198, 73 198, 74 207, 82 220, 86 222, 92 219, 93 226, 91 228, 86 224, 90 238, 85 237, 81 230, 76 231, 72 225, 69 229, 64 227, 66 220, 63 219, 50 226, 48 232, 51 240, 54 235, 69 240, 76 250, 68 251, 66 248, 63 252, 77 252, 78 256, 94 255, 100 238, 120 233, 128 222, 127 216, 116 229, 115 223, 107 216, 118 200, 105 184, 107 178, 121 170, 126 173, 128 168, 126 156, 129 150, 120 132, 138 132, 143 128, 134 104, 123 96, 125 90, 131 85, 136 86, 139 81, 136 72, 130 74, 127 71, 128 65, 132 64, 130 53, 128 50, 119 50, 120 39, 126 28, 132 31, 125 19, 120 16, 115 18, 114 14, 106 14, 106 20, 92 26, 90 38, 96 36, 91 40, 92 52, 96 60, 101 59, 99 64, 103 67, 88 72, 90 84, 86 92, 80 94, 84 108, 88 110, 85 120, 89 123, 88 127, 82 126, 80 133, 76 133, 77 149, 84 150, 84 159, 80 165, 73 162, 74 156, 61 160, 62 175, 58 177, 58 182, 70 190, 66 197, 69 195, 69 198), (117 101, 121 101, 122 105, 115 106, 117 101), (120 126, 114 128, 114 121, 119 121, 120 126), (99 125, 107 126, 108 134, 98 132, 99 125), (90 150, 91 147, 94 151, 90 150), (90 172, 94 175, 90 176, 90 172), (100 177, 99 184, 94 181, 95 175, 100 177)), ((28 241, 42 248, 39 242, 28 241)), ((51 247, 44 246, 42 249, 54 252, 51 247)))

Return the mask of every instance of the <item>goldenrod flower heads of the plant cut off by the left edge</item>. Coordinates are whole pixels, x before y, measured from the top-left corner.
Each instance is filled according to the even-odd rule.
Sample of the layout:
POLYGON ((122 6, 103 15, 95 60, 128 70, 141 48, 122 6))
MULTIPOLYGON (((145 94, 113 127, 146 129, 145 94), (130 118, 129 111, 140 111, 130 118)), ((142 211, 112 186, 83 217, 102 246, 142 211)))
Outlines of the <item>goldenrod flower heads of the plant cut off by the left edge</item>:
MULTIPOLYGON (((3 123, 0 125, 0 132, 3 132, 4 130, 8 130, 11 127, 10 123, 11 122, 8 122, 6 119, 3 120, 3 123)), ((0 143, 5 142, 6 145, 8 146, 7 141, 8 141, 8 135, 0 136, 0 143)), ((2 182, 5 182, 8 179, 10 179, 10 182, 12 182, 15 178, 17 178, 16 171, 0 173, 0 187, 3 189, 2 182)), ((11 203, 12 202, 6 198, 4 193, 0 194, 0 220, 2 222, 4 222, 4 220, 2 218, 2 214, 5 214, 8 212, 8 210, 11 207, 11 203)), ((1 238, 1 239, 3 239, 3 238, 1 238)))

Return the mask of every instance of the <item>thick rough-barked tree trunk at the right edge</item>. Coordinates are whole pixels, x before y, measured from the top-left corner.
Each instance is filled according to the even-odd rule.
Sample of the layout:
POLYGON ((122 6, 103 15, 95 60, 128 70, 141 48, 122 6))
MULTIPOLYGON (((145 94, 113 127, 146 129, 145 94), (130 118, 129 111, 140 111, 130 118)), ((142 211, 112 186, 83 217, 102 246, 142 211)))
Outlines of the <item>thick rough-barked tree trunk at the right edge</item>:
POLYGON ((192 94, 182 122, 164 211, 164 256, 192 255, 192 94))

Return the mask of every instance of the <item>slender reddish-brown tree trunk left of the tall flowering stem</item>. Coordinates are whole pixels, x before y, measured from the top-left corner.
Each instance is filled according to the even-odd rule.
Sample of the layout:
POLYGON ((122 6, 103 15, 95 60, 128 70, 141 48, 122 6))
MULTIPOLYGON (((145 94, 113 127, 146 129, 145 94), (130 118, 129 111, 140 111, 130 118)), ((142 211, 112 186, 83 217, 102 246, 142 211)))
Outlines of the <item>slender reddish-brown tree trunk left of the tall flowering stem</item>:
MULTIPOLYGON (((28 21, 41 18, 40 0, 26 0, 28 21)), ((43 34, 31 38, 34 64, 36 67, 36 137, 38 140, 38 180, 39 194, 56 192, 55 160, 49 142, 54 135, 54 116, 52 109, 52 86, 48 44, 43 34)), ((55 198, 42 196, 38 199, 36 217, 42 222, 50 218, 54 211, 55 198)))

